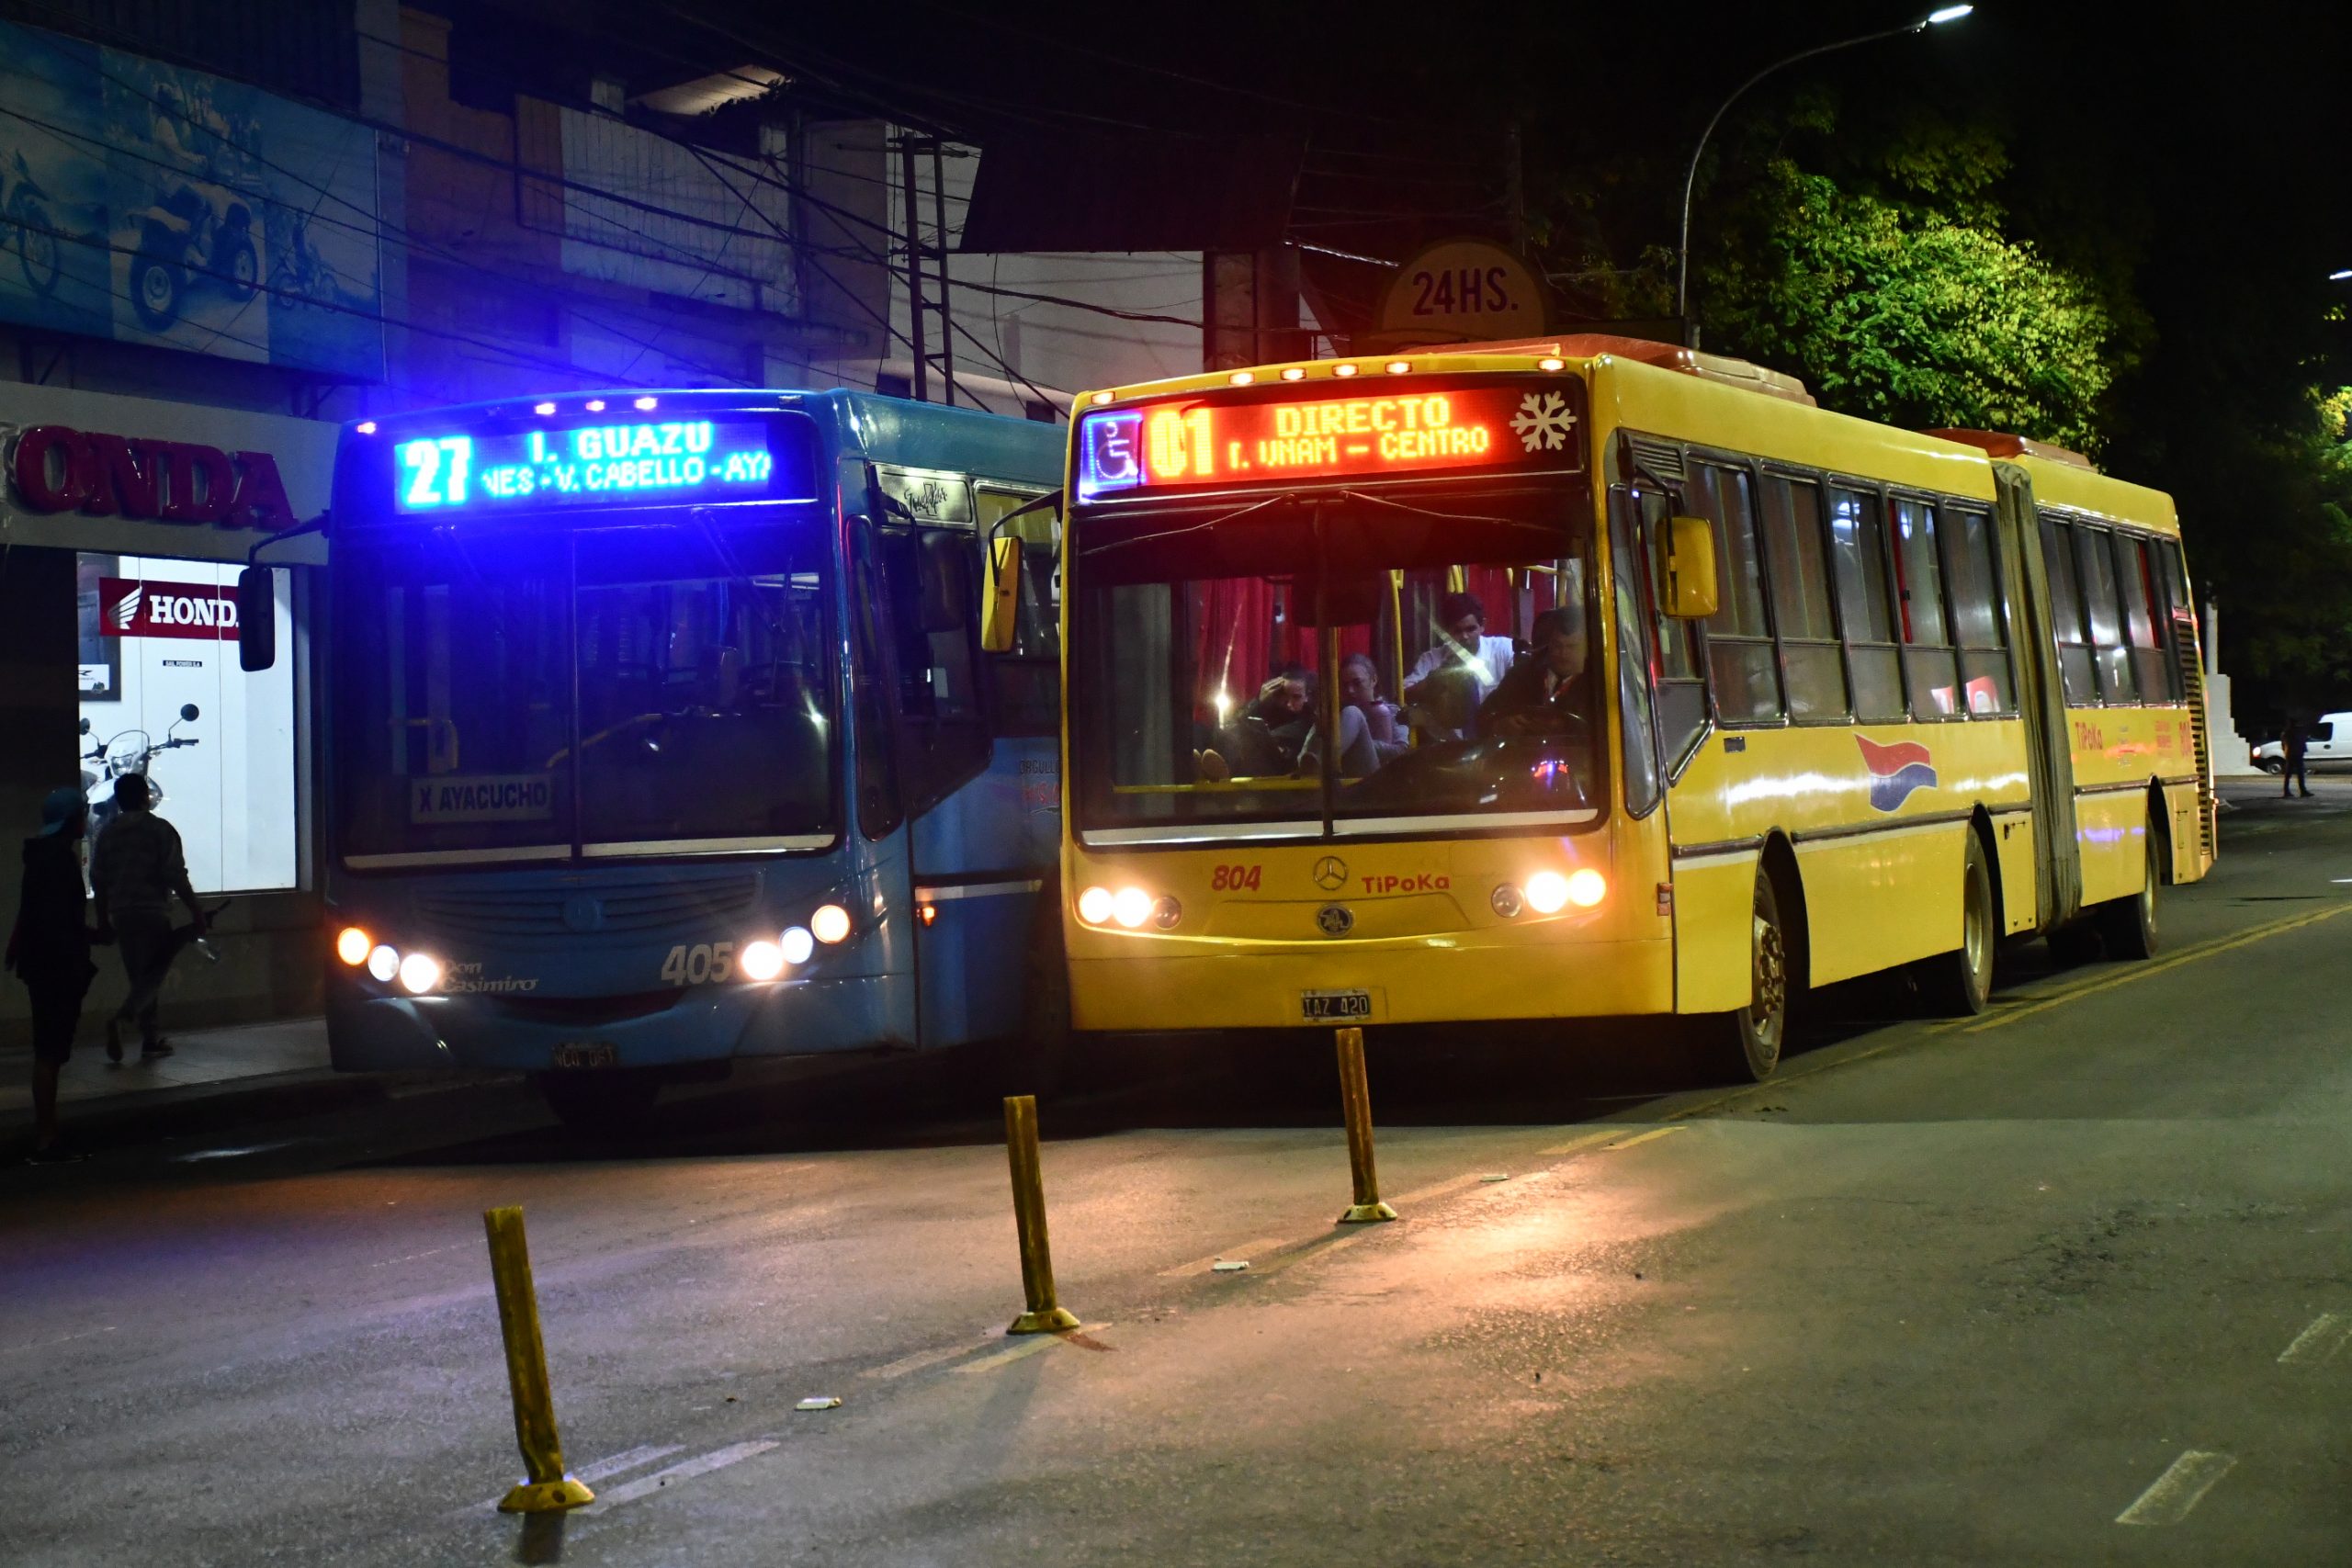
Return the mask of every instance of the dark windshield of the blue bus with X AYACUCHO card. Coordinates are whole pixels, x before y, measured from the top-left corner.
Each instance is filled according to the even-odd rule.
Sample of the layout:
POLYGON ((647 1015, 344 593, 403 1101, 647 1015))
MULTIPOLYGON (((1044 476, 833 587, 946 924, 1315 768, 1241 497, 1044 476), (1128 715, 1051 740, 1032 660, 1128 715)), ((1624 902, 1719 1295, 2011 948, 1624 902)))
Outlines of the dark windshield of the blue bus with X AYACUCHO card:
POLYGON ((833 842, 814 515, 383 529, 336 548, 339 837, 355 863, 833 842))

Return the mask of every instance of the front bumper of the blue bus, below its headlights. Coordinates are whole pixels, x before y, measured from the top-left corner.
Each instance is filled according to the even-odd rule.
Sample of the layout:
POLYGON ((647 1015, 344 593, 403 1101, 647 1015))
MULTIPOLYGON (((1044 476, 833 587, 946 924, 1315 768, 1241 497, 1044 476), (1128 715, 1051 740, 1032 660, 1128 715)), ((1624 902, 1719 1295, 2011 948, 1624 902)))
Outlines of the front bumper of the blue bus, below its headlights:
POLYGON ((550 1018, 546 1006, 499 997, 372 994, 336 976, 327 983, 327 1051, 339 1072, 546 1072, 560 1051, 612 1067, 684 1067, 910 1046, 915 1037, 913 987, 898 976, 689 987, 659 1011, 626 1001, 612 999, 600 1018, 597 999, 567 999, 564 1016, 550 1018))

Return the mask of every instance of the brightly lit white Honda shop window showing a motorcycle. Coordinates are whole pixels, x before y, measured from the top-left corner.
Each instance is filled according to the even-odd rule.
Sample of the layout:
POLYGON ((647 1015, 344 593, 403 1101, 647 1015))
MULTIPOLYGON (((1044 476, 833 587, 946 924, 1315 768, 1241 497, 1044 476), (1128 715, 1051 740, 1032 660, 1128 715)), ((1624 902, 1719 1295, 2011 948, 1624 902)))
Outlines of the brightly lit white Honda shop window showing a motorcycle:
MULTIPOLYGON (((278 646, 294 646, 292 574, 278 574, 278 646)), ((238 668, 238 569, 146 555, 80 555, 82 788, 92 827, 122 773, 146 773, 179 827, 198 893, 289 889, 294 658, 238 668)))

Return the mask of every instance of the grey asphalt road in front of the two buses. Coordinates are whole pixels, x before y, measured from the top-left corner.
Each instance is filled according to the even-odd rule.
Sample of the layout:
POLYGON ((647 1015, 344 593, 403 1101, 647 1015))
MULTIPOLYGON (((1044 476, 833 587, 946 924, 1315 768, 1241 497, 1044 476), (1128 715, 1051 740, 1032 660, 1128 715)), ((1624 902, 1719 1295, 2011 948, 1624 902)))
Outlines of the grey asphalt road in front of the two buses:
POLYGON ((2150 964, 1828 999, 1773 1084, 1376 1039, 1049 1103, 804 1067, 581 1150, 506 1088, 0 1173, 7 1563, 2345 1563, 2352 783, 2249 795, 2150 964), (567 1458, 522 1523, 480 1211, 567 1458), (1223 1258, 1247 1269, 1216 1269, 1223 1258), (804 1396, 837 1396, 802 1413, 804 1396))

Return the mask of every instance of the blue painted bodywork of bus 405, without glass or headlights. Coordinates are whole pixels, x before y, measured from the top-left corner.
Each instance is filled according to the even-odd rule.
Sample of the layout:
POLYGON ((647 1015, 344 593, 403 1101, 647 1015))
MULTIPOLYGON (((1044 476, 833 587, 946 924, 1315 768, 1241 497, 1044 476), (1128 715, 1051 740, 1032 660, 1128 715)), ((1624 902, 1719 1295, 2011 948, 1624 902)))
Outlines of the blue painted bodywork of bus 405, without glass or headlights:
MULTIPOLYGON (((1047 491, 1061 433, 967 409, 866 393, 663 393, 708 407, 797 407, 828 444, 847 510, 866 510, 863 465, 898 463, 1047 491), (736 404, 734 400, 743 400, 736 404)), ((506 414, 482 404, 423 416, 506 414)), ((346 435, 346 440, 353 440, 346 435)), ((348 503, 339 496, 339 505, 348 503)), ((851 668, 847 567, 835 562, 840 668, 851 668)), ((332 684, 329 684, 332 689, 332 684)), ((844 820, 830 851, 419 867, 353 875, 329 863, 336 926, 426 950, 449 966, 437 994, 407 997, 329 959, 327 1037, 339 1070, 546 1070, 557 1046, 612 1046, 619 1067, 736 1056, 941 1046, 1021 1023, 1037 886, 1058 849, 1054 738, 997 738, 988 769, 882 839, 858 832, 856 748, 842 701, 844 820), (936 893, 917 917, 915 889, 936 893), (776 940, 842 903, 854 929, 774 983, 675 983, 696 947, 776 940), (666 966, 670 976, 666 976, 666 966)), ((329 715, 329 745, 334 717, 329 715)), ((703 954, 710 961, 713 954, 703 954)))

